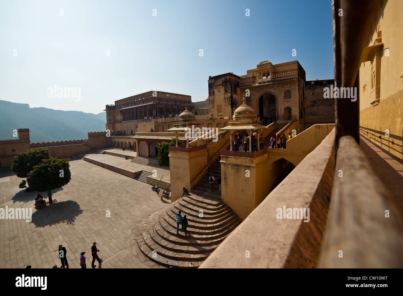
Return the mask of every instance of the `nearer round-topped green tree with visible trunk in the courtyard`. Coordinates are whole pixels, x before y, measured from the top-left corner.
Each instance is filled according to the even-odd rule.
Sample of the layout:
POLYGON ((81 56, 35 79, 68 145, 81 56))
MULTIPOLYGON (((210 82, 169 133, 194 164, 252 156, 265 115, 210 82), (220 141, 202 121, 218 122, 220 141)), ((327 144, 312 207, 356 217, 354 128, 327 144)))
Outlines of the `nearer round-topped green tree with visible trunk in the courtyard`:
POLYGON ((66 185, 70 180, 70 164, 66 158, 44 159, 27 175, 27 182, 32 190, 48 191, 49 203, 52 203, 52 190, 66 185))

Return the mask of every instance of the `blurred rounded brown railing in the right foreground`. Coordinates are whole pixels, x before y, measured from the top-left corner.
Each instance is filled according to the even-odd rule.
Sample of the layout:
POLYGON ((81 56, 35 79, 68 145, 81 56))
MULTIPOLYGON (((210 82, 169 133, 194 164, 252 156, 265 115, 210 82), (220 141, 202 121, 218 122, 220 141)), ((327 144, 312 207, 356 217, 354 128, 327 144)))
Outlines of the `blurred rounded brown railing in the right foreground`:
POLYGON ((318 267, 401 268, 402 233, 391 194, 353 137, 341 137, 318 267))

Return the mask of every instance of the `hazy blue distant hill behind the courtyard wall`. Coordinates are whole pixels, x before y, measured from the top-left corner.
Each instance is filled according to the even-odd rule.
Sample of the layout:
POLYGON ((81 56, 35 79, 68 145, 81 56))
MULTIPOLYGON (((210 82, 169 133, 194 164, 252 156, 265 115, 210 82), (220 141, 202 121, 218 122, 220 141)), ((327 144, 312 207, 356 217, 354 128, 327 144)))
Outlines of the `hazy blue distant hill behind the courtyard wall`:
POLYGON ((29 128, 31 143, 87 139, 87 132, 105 130, 106 112, 29 108, 0 100, 0 140, 13 139, 12 130, 29 128))

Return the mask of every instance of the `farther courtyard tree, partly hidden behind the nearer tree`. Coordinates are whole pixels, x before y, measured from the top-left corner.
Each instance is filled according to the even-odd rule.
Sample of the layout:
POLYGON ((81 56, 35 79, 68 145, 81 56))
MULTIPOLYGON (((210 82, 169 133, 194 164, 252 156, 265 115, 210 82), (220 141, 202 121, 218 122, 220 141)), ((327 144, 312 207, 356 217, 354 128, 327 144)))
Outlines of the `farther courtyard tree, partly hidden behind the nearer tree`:
POLYGON ((27 152, 19 152, 12 162, 12 171, 19 178, 27 178, 27 174, 34 166, 41 163, 42 159, 50 159, 51 155, 46 148, 32 149, 27 152))

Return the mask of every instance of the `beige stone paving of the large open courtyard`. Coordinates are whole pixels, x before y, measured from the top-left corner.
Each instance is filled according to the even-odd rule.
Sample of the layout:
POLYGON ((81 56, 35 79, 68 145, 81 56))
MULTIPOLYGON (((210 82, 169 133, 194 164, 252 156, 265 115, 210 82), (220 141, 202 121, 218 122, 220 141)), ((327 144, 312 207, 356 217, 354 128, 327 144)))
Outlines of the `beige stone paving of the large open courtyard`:
MULTIPOLYGON (((31 223, 0 219, 0 268, 60 267, 59 244, 67 249, 70 268, 80 268, 82 251, 90 268, 94 240, 104 260, 96 262, 96 268, 145 268, 130 247, 131 230, 167 203, 160 201, 149 184, 81 159, 70 165, 69 184, 52 191, 52 199, 58 202, 38 210, 33 208, 37 192, 25 193, 25 188, 18 187, 21 178, 10 171, 0 172, 0 208, 33 208, 31 223), (106 217, 107 210, 110 217, 106 217)), ((47 194, 42 195, 48 201, 47 194)))

